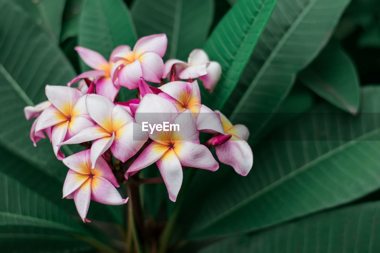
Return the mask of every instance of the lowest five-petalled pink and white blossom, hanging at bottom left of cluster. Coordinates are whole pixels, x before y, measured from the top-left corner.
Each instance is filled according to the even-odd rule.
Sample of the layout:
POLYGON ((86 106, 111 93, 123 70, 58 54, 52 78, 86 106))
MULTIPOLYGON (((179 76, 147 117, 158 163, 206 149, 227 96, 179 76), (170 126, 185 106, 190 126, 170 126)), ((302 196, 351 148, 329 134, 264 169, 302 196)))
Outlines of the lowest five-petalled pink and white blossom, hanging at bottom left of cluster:
POLYGON ((103 157, 99 157, 91 169, 90 150, 70 155, 62 160, 70 168, 63 184, 63 198, 74 199, 76 209, 84 222, 90 199, 108 205, 121 205, 123 199, 115 187, 119 187, 114 174, 103 157))

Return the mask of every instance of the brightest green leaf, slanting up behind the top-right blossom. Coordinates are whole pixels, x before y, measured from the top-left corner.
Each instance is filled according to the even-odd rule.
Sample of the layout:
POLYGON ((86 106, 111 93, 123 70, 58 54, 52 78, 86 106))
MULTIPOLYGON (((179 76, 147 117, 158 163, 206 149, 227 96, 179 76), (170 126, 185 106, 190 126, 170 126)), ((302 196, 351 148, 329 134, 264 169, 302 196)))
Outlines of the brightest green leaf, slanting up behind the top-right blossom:
POLYGON ((212 94, 201 89, 202 103, 221 109, 233 92, 264 30, 277 0, 240 0, 215 27, 204 46, 211 60, 222 66, 212 94))

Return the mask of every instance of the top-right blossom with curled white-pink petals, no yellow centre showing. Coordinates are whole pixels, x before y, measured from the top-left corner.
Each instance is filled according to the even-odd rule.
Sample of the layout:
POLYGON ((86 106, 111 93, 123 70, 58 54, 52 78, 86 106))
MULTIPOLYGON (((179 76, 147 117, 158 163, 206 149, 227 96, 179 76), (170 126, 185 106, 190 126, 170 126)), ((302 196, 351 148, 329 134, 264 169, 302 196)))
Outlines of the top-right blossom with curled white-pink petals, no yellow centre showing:
POLYGON ((166 77, 171 80, 173 74, 177 81, 198 78, 203 86, 212 93, 220 79, 222 68, 218 62, 210 61, 202 49, 194 49, 187 62, 177 59, 165 62, 162 78, 166 77))

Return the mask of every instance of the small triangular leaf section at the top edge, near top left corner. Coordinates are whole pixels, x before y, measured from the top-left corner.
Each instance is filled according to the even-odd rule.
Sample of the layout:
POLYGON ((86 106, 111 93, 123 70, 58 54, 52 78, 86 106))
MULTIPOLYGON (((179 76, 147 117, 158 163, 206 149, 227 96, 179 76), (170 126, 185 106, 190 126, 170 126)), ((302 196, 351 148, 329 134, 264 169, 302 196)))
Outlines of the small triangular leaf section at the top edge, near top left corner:
POLYGON ((14 0, 14 2, 32 16, 37 24, 46 30, 52 40, 59 43, 66 0, 14 0))

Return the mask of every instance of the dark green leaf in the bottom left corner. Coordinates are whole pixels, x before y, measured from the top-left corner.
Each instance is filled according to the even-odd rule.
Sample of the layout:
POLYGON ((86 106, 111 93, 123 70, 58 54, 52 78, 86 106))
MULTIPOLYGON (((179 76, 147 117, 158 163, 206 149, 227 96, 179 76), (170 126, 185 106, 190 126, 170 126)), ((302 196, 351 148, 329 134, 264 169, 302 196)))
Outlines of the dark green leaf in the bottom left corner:
MULTIPOLYGON (((90 235, 63 209, 14 178, 0 172, 0 182, 3 193, 0 196, 0 244, 9 247, 2 247, 2 250, 12 251, 14 247, 17 249, 21 246, 26 250, 28 245, 17 246, 21 238, 33 239, 25 242, 31 248, 44 250, 44 243, 51 244, 59 239, 58 235, 74 243, 78 240, 72 234, 90 235), (9 244, 9 240, 14 243, 9 244)), ((63 249, 70 248, 68 245, 60 246, 63 249)), ((78 247, 75 244, 73 246, 78 247)))

